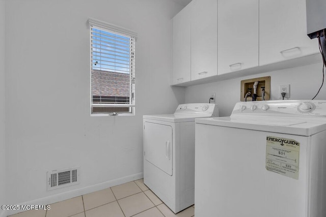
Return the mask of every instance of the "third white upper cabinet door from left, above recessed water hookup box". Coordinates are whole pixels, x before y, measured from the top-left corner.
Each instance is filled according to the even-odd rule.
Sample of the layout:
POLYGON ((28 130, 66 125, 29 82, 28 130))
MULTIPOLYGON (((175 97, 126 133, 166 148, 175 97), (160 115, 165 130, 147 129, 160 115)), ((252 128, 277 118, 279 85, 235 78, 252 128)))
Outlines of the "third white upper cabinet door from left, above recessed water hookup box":
POLYGON ((258 0, 218 1, 219 75, 258 66, 258 0))

